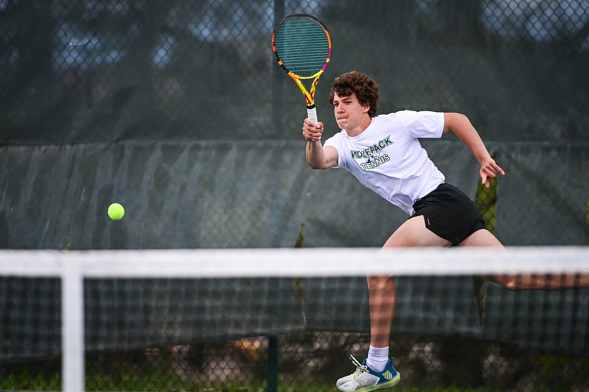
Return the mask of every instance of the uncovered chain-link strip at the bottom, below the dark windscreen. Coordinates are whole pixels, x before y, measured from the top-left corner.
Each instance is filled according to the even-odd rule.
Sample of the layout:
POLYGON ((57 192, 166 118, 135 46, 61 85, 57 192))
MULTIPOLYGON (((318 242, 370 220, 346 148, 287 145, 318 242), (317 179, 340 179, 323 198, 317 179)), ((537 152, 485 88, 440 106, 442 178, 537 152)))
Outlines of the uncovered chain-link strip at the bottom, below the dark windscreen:
MULTIPOLYGON (((132 351, 88 353, 88 391, 328 391, 353 372, 346 350, 368 352, 369 337, 316 332, 132 351), (275 368, 278 373, 272 374, 275 368)), ((401 390, 587 391, 586 356, 517 344, 399 334, 391 341, 401 390), (412 389, 413 388, 413 389, 412 389)), ((61 362, 0 367, 6 390, 60 390, 61 362)))

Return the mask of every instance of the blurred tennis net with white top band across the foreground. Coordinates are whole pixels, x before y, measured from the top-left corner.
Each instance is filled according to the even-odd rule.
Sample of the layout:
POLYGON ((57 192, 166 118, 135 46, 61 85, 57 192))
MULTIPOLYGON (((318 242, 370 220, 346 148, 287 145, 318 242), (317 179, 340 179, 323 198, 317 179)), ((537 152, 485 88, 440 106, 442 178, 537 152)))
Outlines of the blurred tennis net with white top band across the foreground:
POLYGON ((589 390, 588 272, 587 247, 2 250, 0 389, 335 389, 394 275, 403 384, 589 390), (480 278, 542 274, 585 288, 480 278))

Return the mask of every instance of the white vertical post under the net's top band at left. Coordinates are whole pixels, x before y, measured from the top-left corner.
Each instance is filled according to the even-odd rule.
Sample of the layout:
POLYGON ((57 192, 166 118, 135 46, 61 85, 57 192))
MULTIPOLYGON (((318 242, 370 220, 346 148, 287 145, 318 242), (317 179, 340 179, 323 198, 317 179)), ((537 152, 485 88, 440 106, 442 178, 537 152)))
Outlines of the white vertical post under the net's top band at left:
POLYGON ((62 258, 61 384, 63 392, 85 390, 84 275, 80 261, 62 258))

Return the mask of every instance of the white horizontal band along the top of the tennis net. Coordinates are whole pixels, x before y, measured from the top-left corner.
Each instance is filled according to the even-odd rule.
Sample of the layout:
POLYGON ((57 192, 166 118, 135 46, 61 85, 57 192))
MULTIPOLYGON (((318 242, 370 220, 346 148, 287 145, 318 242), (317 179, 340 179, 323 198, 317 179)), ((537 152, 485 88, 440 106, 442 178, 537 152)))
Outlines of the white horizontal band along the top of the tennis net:
POLYGON ((88 278, 486 275, 589 270, 589 247, 0 250, 0 274, 88 278), (71 268, 71 267, 69 267, 71 268))

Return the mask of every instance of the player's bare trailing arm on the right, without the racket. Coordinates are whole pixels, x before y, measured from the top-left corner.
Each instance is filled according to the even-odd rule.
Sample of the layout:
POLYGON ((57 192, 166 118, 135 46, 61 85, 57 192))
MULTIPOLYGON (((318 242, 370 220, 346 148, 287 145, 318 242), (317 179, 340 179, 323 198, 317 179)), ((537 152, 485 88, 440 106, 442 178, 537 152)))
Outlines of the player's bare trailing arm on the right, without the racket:
POLYGON ((472 151, 481 165, 479 175, 485 186, 489 187, 489 178, 497 177, 497 173, 505 175, 502 168, 491 158, 487 147, 483 143, 477 130, 472 126, 468 117, 459 113, 444 113, 444 133, 454 134, 472 151))

